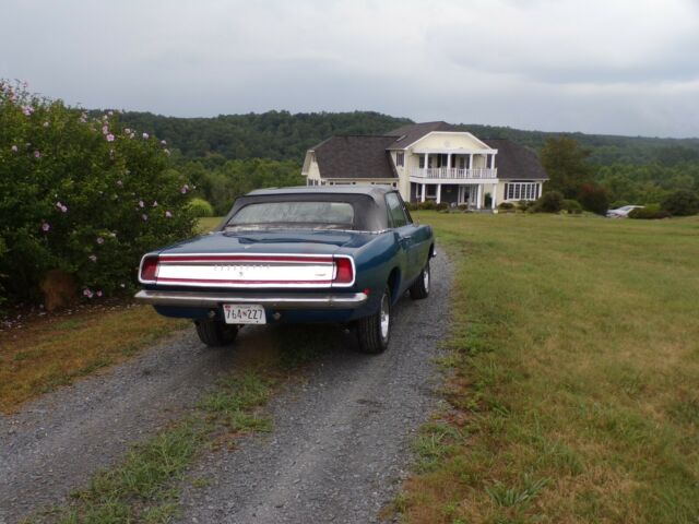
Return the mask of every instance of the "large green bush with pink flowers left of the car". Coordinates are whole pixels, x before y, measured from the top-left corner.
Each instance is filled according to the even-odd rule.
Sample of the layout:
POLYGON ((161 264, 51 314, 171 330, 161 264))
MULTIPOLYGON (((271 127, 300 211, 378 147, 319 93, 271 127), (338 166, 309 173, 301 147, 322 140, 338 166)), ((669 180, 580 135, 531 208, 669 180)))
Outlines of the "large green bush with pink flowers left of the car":
POLYGON ((187 183, 118 115, 94 119, 0 81, 0 296, 38 299, 50 270, 86 298, 128 289, 144 252, 192 234, 187 183))

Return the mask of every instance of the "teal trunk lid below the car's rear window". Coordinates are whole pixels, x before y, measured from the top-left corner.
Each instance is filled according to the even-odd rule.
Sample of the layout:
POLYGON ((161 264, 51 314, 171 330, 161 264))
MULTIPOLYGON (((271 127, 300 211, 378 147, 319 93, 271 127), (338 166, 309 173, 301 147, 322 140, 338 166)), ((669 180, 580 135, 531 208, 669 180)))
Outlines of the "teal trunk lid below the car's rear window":
POLYGON ((333 254, 367 243, 375 234, 334 230, 217 231, 187 240, 161 253, 168 254, 333 254))

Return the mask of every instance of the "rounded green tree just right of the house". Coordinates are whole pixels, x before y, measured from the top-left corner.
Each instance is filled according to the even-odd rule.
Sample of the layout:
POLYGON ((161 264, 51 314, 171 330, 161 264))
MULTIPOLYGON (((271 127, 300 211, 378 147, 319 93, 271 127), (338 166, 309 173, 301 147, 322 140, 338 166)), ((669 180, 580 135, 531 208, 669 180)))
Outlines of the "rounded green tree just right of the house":
POLYGON ((548 139, 542 147, 541 159, 548 174, 546 189, 560 191, 568 199, 578 199, 580 187, 592 180, 590 151, 580 147, 573 139, 548 139))

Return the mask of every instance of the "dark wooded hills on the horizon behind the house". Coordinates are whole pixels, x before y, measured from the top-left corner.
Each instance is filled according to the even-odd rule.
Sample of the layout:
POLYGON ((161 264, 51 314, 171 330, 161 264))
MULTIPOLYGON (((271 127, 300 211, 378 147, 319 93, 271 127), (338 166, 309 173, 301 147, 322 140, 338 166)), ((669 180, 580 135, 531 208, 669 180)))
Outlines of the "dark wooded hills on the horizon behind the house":
MULTIPOLYGON (((212 118, 178 118, 126 111, 127 126, 153 133, 178 148, 186 158, 221 155, 222 159, 270 158, 303 162, 306 150, 333 134, 380 134, 404 123, 372 111, 299 112, 268 111, 221 115, 212 118)), ((657 139, 584 133, 523 131, 508 127, 458 124, 482 139, 510 139, 538 151, 546 139, 567 135, 592 151, 597 165, 674 166, 699 162, 699 139, 657 139)))

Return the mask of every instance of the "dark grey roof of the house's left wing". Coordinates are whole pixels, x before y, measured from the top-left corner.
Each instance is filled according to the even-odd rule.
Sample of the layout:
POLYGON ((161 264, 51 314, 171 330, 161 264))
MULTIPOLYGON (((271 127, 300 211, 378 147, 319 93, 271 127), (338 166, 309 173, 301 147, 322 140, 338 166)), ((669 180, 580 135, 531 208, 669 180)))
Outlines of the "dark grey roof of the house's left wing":
POLYGON ((323 178, 398 178, 387 151, 394 141, 395 136, 339 135, 313 151, 323 178))

